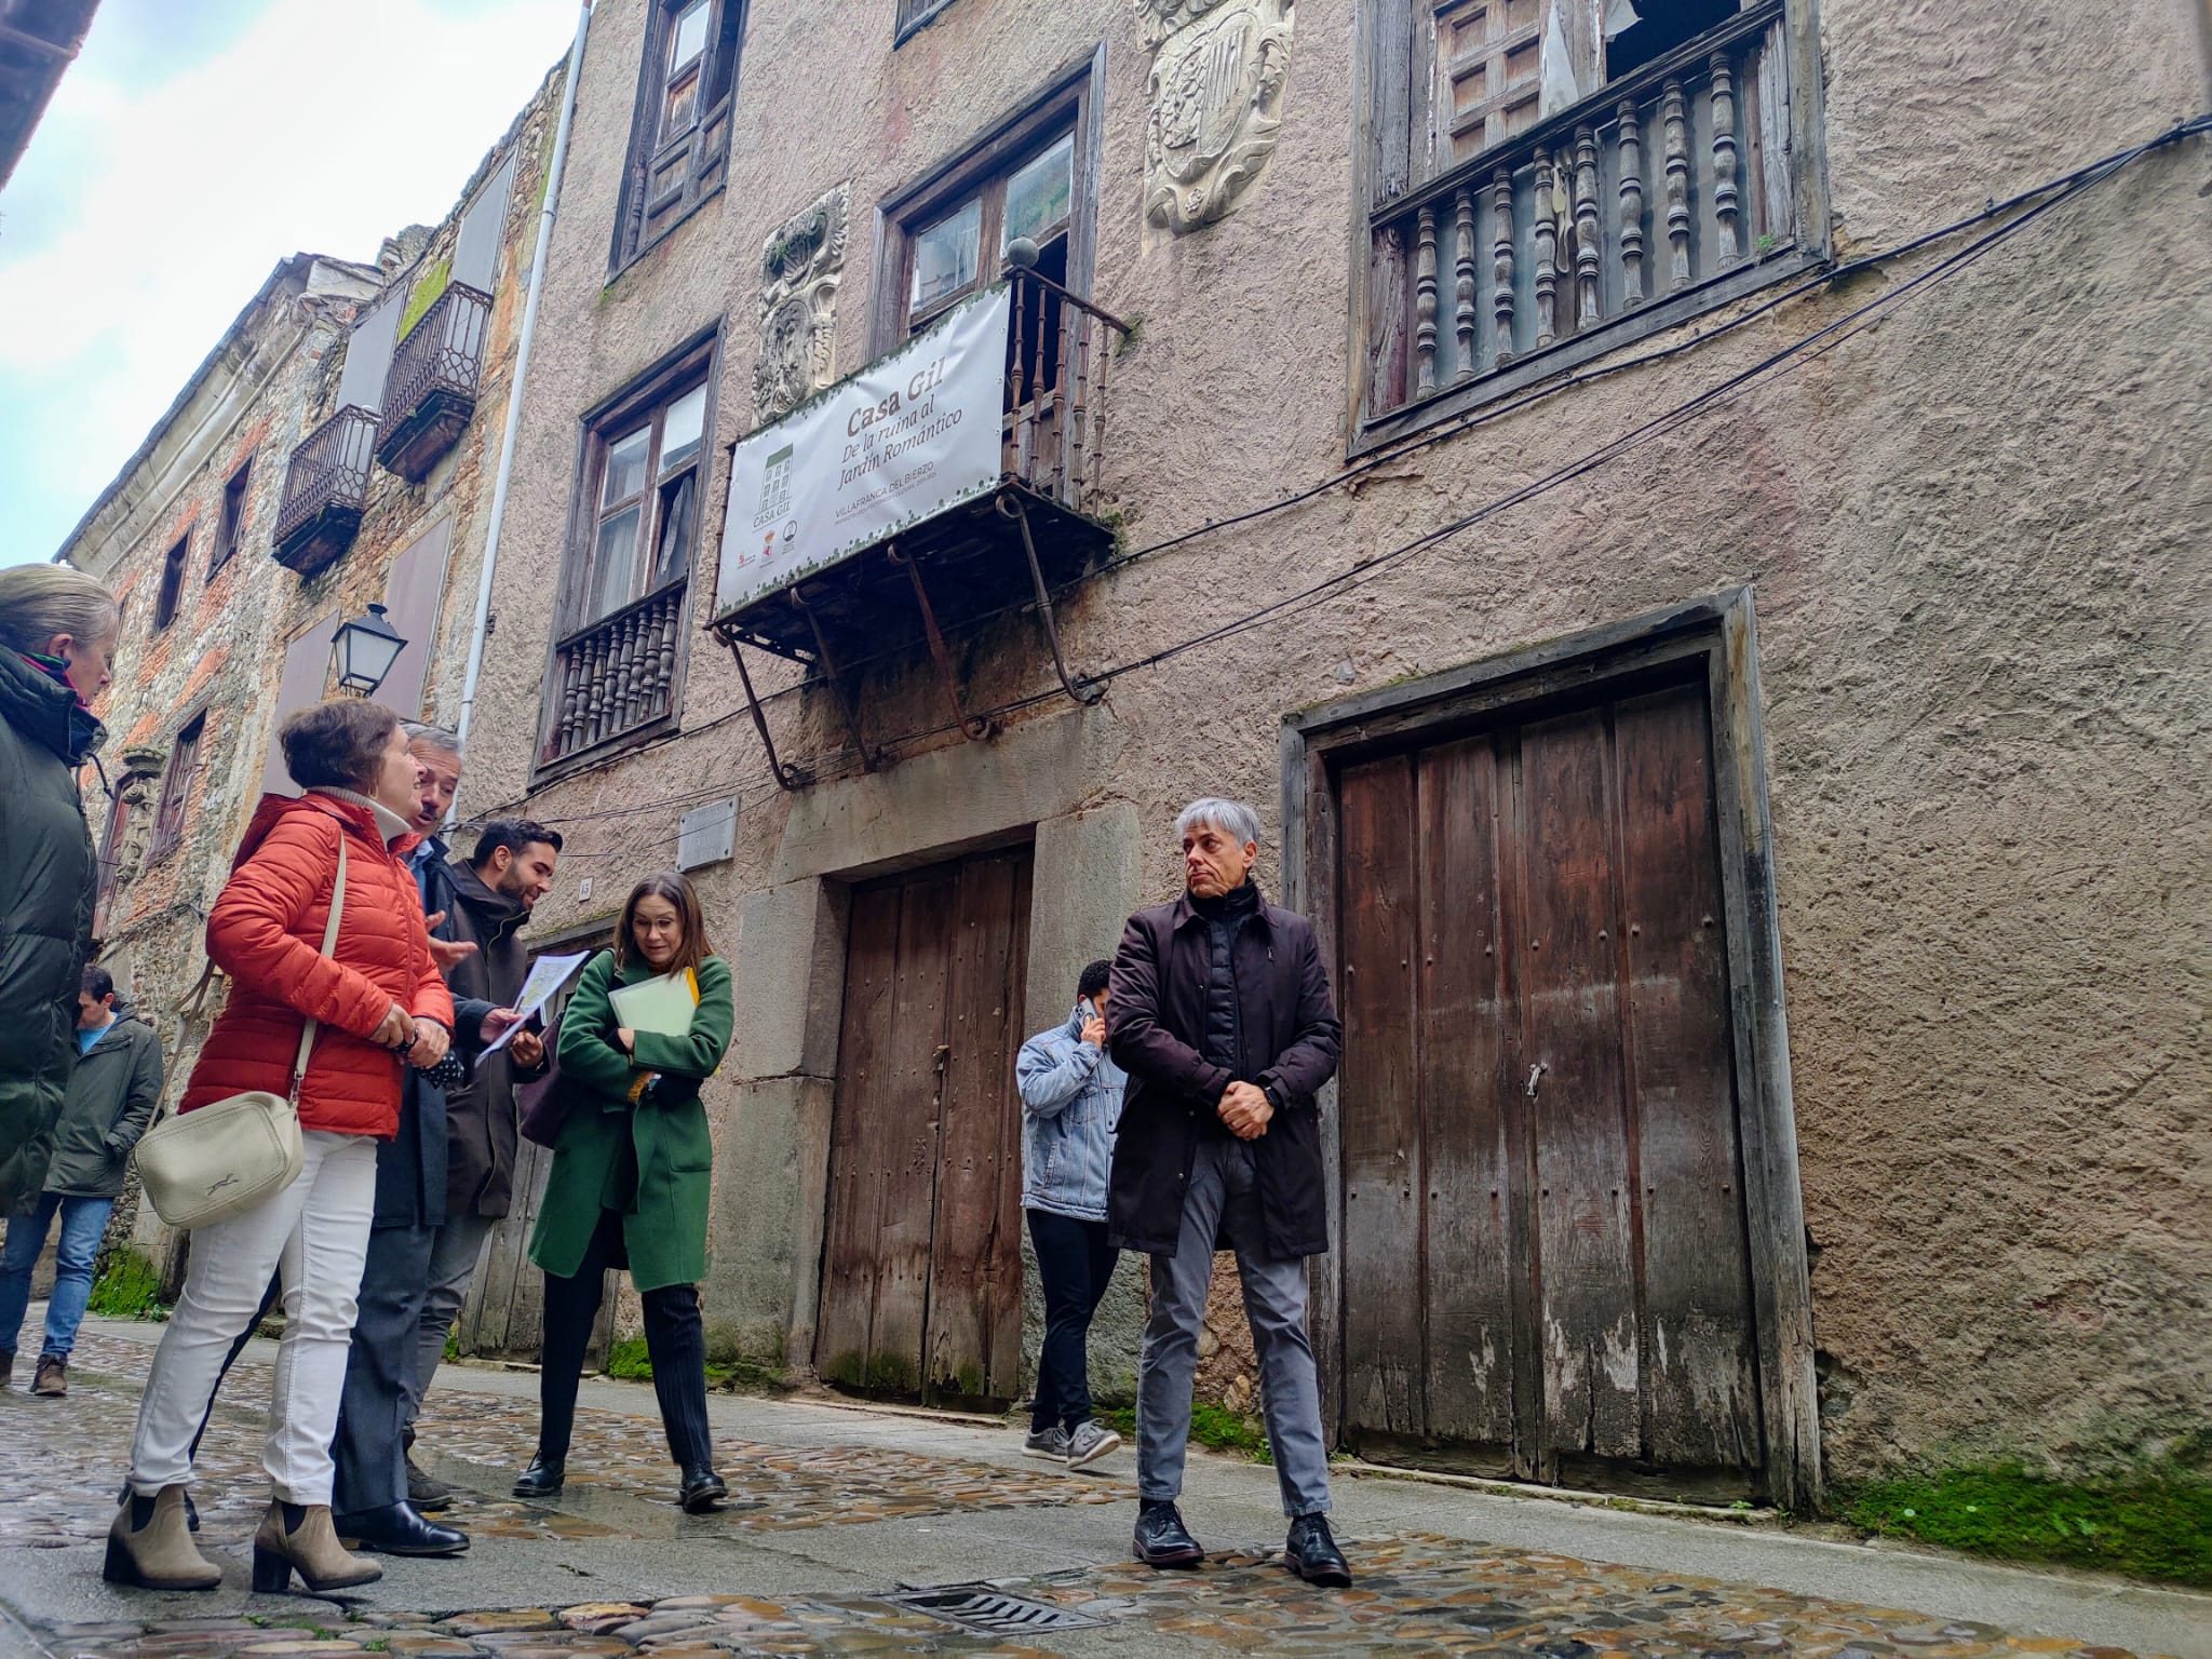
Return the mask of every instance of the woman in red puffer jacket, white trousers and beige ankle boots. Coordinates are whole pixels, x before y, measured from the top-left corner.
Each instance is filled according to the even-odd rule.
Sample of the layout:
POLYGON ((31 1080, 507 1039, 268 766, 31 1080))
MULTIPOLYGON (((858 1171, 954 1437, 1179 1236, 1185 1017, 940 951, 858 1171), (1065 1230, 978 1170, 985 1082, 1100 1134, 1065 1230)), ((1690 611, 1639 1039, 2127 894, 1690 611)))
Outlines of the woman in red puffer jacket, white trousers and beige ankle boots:
POLYGON ((230 1000, 179 1110, 243 1091, 290 1093, 312 1018, 299 1088, 305 1161, 283 1192, 192 1232, 184 1298, 146 1376, 131 1495, 108 1531, 106 1577, 164 1590, 221 1584, 186 1520, 192 1438, 279 1263, 285 1327, 265 1451, 274 1502, 254 1535, 254 1588, 281 1590, 294 1571, 312 1590, 380 1577, 330 1524, 330 1440, 369 1245, 376 1146, 398 1130, 403 1066, 445 1055, 453 1000, 403 863, 416 841, 405 816, 416 761, 398 717, 332 701, 294 714, 276 737, 305 794, 263 796, 208 916, 208 958, 230 975, 230 1000), (341 843, 345 905, 325 958, 341 843))

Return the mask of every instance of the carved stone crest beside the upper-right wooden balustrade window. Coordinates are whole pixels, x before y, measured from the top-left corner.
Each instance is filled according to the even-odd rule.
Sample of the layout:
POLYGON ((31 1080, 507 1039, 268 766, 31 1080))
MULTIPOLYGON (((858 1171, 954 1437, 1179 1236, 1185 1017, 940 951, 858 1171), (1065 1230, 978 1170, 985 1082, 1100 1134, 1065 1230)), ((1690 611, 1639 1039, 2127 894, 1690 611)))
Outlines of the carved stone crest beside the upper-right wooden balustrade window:
POLYGON ((1294 0, 1137 0, 1152 44, 1144 212, 1181 234, 1230 212, 1283 126, 1294 0))

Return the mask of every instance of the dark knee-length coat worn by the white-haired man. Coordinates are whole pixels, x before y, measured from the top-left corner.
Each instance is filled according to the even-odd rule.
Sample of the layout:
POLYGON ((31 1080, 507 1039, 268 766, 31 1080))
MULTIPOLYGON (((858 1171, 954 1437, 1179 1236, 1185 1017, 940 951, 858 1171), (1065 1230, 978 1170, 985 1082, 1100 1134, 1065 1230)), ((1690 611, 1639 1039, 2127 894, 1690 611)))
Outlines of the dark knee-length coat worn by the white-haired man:
POLYGON ((1336 1075, 1343 1026, 1329 1000, 1314 927, 1261 900, 1237 929, 1234 1068, 1206 1060, 1210 929, 1183 894, 1128 918, 1106 993, 1106 1046, 1128 1071, 1121 1130, 1106 1190, 1108 1232, 1121 1250, 1175 1254, 1183 1190, 1199 1146, 1232 1082, 1259 1084, 1274 1102, 1252 1141, 1263 1239, 1239 1239, 1279 1261, 1329 1248, 1314 1095, 1336 1075))

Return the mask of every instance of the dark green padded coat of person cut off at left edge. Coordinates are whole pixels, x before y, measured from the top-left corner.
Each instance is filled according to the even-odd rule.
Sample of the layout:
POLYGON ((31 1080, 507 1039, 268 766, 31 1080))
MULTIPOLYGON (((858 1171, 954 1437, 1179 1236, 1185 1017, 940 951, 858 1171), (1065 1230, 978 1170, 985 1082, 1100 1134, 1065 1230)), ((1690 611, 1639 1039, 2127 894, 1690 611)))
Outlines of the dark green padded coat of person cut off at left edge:
POLYGON ((0 1212, 44 1190, 77 1062, 77 978, 100 889, 77 768, 104 741, 69 686, 0 648, 0 1212))

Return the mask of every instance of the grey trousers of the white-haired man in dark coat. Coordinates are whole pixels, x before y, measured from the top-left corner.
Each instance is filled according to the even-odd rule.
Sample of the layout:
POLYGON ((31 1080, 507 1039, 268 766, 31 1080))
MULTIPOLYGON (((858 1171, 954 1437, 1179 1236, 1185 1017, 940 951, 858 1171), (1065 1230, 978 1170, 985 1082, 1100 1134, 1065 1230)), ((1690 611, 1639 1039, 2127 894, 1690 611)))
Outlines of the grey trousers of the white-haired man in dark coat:
POLYGON ((1199 1327, 1223 1214, 1237 1241, 1237 1281, 1252 1325, 1283 1513, 1318 1515, 1329 1506, 1329 1451, 1321 1440, 1314 1347, 1305 1340, 1305 1263, 1259 1254, 1265 1234, 1245 1141, 1199 1141, 1183 1188, 1183 1234, 1172 1256, 1152 1256, 1152 1314, 1137 1367, 1137 1495, 1159 1502, 1183 1491, 1190 1380, 1199 1369, 1199 1327))

